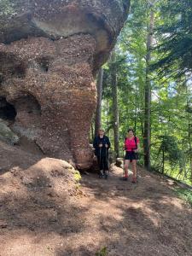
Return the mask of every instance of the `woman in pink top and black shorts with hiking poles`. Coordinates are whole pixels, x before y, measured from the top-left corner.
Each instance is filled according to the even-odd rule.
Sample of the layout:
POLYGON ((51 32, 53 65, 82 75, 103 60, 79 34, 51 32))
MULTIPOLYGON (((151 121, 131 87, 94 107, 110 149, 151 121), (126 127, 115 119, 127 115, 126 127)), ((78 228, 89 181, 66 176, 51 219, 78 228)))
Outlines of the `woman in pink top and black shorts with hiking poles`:
POLYGON ((128 178, 128 167, 130 165, 130 162, 132 163, 132 183, 137 183, 137 152, 138 152, 138 144, 139 139, 134 136, 133 129, 129 129, 127 131, 127 136, 125 138, 125 145, 124 150, 126 152, 125 154, 125 175, 124 180, 127 180, 128 178))

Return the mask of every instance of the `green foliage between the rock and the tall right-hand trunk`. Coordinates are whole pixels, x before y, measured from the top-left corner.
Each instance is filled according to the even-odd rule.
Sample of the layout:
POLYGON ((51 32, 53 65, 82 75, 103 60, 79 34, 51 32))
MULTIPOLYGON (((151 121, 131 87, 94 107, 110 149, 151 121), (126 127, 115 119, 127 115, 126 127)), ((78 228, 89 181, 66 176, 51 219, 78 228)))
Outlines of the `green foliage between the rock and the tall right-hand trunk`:
MULTIPOLYGON (((118 79, 119 143, 122 147, 129 127, 134 127, 143 143, 143 108, 146 73, 146 37, 148 34, 148 2, 132 1, 131 15, 116 45, 116 61, 108 62, 104 72, 103 122, 111 123, 112 90, 110 70, 115 66, 118 79)), ((113 135, 111 133, 111 135, 113 135)), ((123 152, 121 151, 121 154, 123 152)))

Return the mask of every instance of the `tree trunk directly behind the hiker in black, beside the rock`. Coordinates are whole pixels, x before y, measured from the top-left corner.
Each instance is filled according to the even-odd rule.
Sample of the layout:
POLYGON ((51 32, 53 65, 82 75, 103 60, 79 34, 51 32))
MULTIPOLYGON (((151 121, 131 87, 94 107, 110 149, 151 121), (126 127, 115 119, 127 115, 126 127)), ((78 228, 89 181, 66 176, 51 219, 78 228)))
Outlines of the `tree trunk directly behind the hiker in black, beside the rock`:
POLYGON ((97 135, 99 128, 101 127, 101 119, 102 119, 102 78, 103 78, 103 69, 101 67, 96 80, 97 102, 96 102, 95 136, 97 135))

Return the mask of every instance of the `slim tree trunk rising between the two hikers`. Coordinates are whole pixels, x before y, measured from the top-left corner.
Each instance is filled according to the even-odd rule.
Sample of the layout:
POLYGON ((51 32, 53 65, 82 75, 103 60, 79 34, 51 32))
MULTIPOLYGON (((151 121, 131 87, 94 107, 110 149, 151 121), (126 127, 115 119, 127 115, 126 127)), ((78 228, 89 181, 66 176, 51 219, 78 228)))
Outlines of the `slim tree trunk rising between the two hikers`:
POLYGON ((117 70, 116 70, 116 57, 113 50, 111 56, 111 85, 113 96, 113 134, 114 134, 114 151, 116 157, 119 157, 119 109, 118 109, 118 88, 117 88, 117 70))

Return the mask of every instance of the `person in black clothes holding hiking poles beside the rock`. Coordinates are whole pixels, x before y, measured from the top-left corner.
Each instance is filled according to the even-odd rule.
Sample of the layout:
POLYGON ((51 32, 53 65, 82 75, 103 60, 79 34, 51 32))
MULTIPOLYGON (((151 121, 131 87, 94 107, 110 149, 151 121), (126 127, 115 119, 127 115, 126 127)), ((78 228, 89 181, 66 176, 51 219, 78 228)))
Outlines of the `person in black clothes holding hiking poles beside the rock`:
POLYGON ((108 148, 111 143, 109 138, 104 135, 105 131, 101 128, 99 135, 95 137, 93 142, 93 148, 95 148, 95 154, 99 164, 99 177, 108 177, 108 148))

